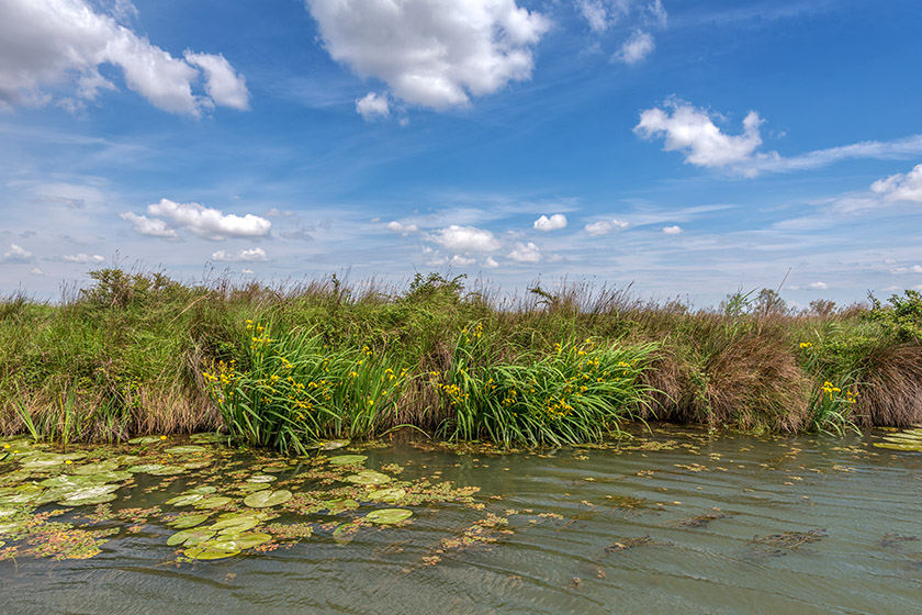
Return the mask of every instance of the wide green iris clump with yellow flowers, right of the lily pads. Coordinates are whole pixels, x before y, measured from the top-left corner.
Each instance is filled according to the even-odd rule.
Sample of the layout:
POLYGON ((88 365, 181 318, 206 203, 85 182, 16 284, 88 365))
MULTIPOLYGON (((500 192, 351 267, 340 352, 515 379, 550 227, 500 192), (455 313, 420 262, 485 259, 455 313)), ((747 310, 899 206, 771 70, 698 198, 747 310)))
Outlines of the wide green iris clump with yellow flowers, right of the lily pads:
POLYGON ((446 436, 506 445, 598 440, 648 403, 639 376, 655 344, 565 340, 514 360, 494 356, 494 348, 475 323, 462 329, 451 368, 429 373, 453 411, 441 428, 446 436))

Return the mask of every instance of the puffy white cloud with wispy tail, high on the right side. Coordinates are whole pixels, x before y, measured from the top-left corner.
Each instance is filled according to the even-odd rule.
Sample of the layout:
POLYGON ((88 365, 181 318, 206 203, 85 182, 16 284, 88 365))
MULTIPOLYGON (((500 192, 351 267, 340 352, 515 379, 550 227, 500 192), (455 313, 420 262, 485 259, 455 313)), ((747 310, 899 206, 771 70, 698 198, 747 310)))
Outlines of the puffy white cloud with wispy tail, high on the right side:
POLYGON ((743 134, 723 134, 704 109, 671 99, 664 109, 653 108, 640 114, 634 133, 645 137, 665 137, 663 149, 683 152, 685 161, 699 167, 726 167, 750 161, 762 145, 758 126, 762 118, 750 111, 743 120, 743 134))

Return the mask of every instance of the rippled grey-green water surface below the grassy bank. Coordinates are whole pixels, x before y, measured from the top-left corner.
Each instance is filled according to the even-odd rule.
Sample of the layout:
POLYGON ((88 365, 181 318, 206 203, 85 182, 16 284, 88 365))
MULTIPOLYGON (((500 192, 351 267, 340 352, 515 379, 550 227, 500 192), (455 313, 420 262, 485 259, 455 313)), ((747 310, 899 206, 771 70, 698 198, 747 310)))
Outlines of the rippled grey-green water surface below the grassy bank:
MULTIPOLYGON (((348 544, 334 524, 375 505, 283 515, 314 535, 215 561, 177 562, 173 530, 156 518, 122 524, 91 559, 0 561, 0 612, 922 613, 922 455, 876 440, 657 428, 620 446, 511 455, 391 445, 362 451, 364 467, 480 491, 468 504, 402 506, 412 523, 360 527, 348 544)), ((279 484, 296 491, 303 471, 290 466, 279 484)), ((168 511, 162 501, 191 484, 143 493, 160 480, 138 477, 113 510, 168 511)))

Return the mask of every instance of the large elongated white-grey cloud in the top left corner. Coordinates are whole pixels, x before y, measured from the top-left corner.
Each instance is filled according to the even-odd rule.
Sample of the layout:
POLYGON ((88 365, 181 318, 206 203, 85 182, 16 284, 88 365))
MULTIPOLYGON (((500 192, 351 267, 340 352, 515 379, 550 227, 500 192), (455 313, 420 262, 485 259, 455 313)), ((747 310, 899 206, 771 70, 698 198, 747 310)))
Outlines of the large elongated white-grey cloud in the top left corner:
MULTIPOLYGON (((115 13, 124 13, 116 3, 115 13)), ((223 56, 187 52, 171 56, 146 37, 97 12, 86 0, 3 0, 0 21, 0 105, 44 104, 42 88, 69 85, 75 98, 61 107, 79 109, 100 90, 116 86, 99 68, 121 68, 125 85, 170 113, 199 116, 215 104, 247 109, 244 78, 223 56), (202 71, 205 93, 192 86, 202 71)))

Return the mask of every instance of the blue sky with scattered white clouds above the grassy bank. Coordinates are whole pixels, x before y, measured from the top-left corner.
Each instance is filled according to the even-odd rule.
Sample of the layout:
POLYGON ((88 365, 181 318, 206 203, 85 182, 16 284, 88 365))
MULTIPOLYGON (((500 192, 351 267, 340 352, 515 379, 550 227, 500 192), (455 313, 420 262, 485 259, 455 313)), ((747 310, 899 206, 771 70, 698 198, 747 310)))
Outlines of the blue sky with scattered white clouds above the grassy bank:
POLYGON ((922 289, 918 0, 0 0, 0 293, 922 289))

